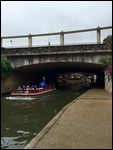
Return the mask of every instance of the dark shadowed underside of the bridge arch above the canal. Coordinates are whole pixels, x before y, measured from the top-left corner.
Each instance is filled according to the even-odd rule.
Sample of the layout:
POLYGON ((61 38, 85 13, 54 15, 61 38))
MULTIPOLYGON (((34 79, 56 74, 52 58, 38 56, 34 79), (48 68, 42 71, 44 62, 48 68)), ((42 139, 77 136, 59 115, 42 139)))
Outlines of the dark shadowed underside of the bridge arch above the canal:
MULTIPOLYGON (((48 82, 57 83, 57 75, 61 73, 88 73, 96 74, 99 86, 104 86, 104 73, 99 64, 80 63, 80 62, 52 62, 27 65, 14 68, 16 72, 27 74, 30 82, 40 82, 42 76, 45 76, 48 82)), ((28 83, 29 84, 29 83, 28 83)))

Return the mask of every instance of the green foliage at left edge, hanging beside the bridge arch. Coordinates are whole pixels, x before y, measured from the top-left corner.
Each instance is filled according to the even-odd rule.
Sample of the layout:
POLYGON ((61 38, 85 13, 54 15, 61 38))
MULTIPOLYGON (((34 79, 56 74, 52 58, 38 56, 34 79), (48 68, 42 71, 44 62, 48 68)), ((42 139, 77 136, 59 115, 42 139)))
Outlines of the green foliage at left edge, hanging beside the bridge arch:
POLYGON ((8 77, 12 72, 11 63, 7 58, 1 58, 1 77, 8 77))

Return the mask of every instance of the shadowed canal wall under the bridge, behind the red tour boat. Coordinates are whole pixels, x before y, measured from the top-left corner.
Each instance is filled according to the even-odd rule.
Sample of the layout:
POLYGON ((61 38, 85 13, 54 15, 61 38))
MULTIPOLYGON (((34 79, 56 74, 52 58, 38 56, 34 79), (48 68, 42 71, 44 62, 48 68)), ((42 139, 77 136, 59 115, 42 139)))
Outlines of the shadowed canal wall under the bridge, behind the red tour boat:
POLYGON ((27 72, 13 71, 7 78, 1 79, 1 93, 11 92, 18 86, 36 84, 38 86, 39 79, 36 75, 27 72), (37 83, 36 83, 37 82, 37 83))

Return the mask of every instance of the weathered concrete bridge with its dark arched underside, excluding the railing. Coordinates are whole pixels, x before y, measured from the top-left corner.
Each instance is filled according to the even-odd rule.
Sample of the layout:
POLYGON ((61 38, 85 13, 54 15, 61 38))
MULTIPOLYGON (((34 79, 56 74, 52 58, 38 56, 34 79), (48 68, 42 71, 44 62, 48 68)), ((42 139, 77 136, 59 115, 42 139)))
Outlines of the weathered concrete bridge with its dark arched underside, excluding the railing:
POLYGON ((10 78, 12 89, 18 85, 36 84, 42 76, 45 76, 48 82, 57 84, 58 74, 73 72, 95 74, 98 85, 104 86, 104 71, 98 61, 101 57, 112 56, 112 45, 2 48, 1 54, 11 61, 14 68, 15 73, 10 78))

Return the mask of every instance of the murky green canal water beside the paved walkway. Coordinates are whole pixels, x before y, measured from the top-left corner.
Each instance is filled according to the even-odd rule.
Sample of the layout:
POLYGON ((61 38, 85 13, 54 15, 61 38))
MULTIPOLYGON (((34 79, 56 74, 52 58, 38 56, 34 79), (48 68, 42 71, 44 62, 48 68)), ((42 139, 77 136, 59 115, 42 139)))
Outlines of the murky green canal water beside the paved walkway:
POLYGON ((23 149, 64 106, 87 90, 65 88, 25 101, 2 95, 1 149, 23 149))

